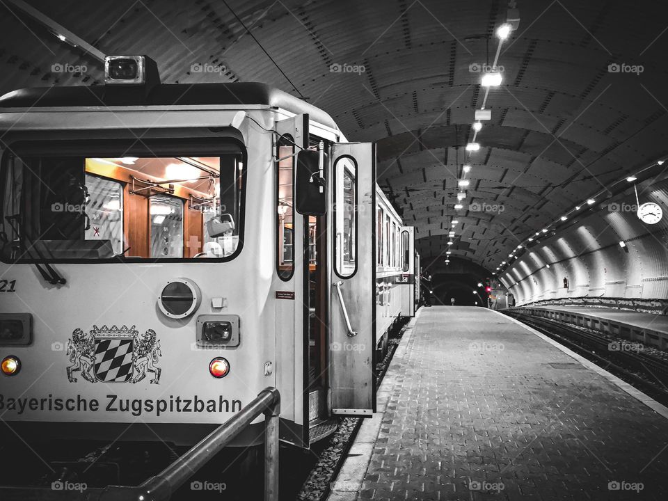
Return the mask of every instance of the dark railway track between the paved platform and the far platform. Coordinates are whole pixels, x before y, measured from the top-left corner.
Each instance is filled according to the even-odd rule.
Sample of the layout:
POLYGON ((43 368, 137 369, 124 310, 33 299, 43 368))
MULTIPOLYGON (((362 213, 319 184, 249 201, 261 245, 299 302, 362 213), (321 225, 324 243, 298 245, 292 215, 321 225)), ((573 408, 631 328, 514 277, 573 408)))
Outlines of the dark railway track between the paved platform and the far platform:
POLYGON ((504 314, 559 341, 661 404, 668 405, 668 361, 642 353, 637 349, 638 343, 611 341, 603 335, 525 313, 506 311, 504 314))

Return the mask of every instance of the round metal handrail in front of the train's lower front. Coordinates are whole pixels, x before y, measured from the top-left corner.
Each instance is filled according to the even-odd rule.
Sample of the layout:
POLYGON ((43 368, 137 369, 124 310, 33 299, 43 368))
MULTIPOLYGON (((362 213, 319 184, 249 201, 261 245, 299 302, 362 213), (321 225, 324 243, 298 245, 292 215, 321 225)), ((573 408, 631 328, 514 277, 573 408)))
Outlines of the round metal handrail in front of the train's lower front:
POLYGON ((162 472, 138 486, 107 486, 85 491, 58 491, 48 487, 0 487, 0 499, 22 501, 167 501, 195 472, 209 462, 225 445, 264 414, 264 500, 278 501, 278 415, 280 394, 265 388, 239 413, 180 456, 162 472))

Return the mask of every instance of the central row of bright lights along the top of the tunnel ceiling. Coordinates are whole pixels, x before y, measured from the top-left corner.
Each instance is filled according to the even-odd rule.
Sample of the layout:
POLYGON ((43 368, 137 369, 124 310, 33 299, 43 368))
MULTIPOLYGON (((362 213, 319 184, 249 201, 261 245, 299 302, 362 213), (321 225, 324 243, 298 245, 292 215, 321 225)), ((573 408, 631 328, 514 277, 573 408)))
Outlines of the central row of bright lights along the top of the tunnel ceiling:
MULTIPOLYGON (((501 82, 503 81, 503 75, 501 72, 498 70, 498 62, 499 62, 499 54, 501 53, 501 46, 503 45, 503 42, 505 40, 508 40, 510 34, 512 33, 514 29, 513 24, 507 22, 502 24, 501 26, 496 29, 496 36, 499 39, 499 45, 496 49, 496 55, 494 56, 494 63, 491 67, 491 72, 484 72, 482 75, 482 79, 480 81, 480 84, 485 88, 485 96, 482 100, 482 106, 480 107, 479 110, 476 110, 476 120, 473 122, 472 129, 473 129, 473 138, 470 143, 466 145, 466 152, 467 154, 471 154, 472 152, 477 152, 480 150, 480 143, 476 142, 478 132, 482 130, 482 121, 484 118, 483 116, 487 116, 486 120, 491 119, 491 113, 484 113, 486 110, 486 105, 487 105, 487 97, 489 95, 489 89, 491 87, 498 87, 501 85, 501 82), (480 112, 480 113, 479 113, 480 112)), ((466 157, 465 157, 466 158, 466 157)), ((466 191, 465 189, 470 186, 470 180, 466 179, 466 175, 470 173, 471 166, 470 164, 464 164, 462 167, 462 177, 457 181, 457 186, 462 189, 462 191, 459 191, 457 193, 457 203, 454 205, 455 210, 461 210, 464 208, 463 204, 461 203, 465 198, 466 198, 466 191)), ((450 233, 448 234, 448 237, 450 239, 447 242, 447 245, 452 246, 454 244, 454 241, 452 240, 454 238, 454 227, 459 223, 456 219, 452 220, 452 230, 450 230, 450 233)), ((448 250, 446 255, 450 255, 450 250, 448 250)), ((446 257, 445 259, 445 264, 449 264, 450 259, 446 257)), ((495 273, 493 273, 495 274, 495 273)))

